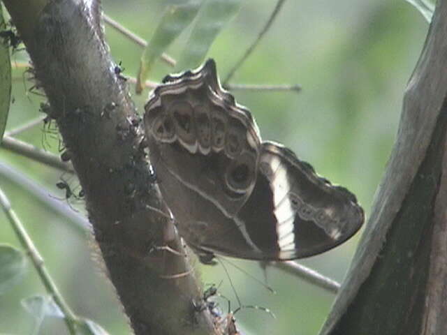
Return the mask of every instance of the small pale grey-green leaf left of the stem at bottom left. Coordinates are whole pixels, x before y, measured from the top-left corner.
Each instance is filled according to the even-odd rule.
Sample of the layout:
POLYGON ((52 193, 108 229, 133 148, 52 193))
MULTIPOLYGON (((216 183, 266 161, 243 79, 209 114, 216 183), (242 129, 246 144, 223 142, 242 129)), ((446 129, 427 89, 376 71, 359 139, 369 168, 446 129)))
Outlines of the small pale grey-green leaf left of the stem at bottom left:
POLYGON ((21 302, 23 308, 34 316, 34 329, 31 334, 38 334, 45 316, 64 318, 64 313, 62 313, 52 297, 33 295, 23 299, 21 302))

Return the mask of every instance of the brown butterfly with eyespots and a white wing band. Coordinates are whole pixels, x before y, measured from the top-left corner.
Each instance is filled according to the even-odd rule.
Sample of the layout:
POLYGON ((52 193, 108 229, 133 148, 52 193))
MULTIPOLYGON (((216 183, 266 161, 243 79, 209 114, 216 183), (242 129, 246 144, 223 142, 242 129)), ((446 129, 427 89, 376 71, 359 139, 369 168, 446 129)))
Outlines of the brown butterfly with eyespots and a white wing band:
POLYGON ((249 110, 219 83, 214 60, 168 75, 145 105, 149 159, 180 236, 214 254, 293 260, 361 227, 356 196, 281 144, 262 141, 249 110))

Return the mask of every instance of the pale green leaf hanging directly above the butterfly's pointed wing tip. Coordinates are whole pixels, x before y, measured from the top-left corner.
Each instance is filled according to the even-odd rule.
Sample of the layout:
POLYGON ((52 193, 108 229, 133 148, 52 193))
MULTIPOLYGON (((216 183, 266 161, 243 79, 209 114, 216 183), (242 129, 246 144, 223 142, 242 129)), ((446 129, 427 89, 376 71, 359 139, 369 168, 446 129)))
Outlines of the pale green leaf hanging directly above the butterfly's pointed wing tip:
POLYGON ((240 0, 205 0, 177 63, 177 70, 196 68, 202 63, 215 38, 240 10, 240 6, 240 0))

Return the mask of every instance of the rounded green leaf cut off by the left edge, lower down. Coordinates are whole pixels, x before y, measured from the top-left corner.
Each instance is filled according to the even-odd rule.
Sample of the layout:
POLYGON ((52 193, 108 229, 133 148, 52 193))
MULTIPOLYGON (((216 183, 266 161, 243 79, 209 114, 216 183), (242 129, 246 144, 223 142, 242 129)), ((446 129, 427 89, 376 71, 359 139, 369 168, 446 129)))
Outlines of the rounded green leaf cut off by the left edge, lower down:
POLYGON ((0 294, 22 278, 26 267, 27 261, 22 251, 0 244, 0 294))

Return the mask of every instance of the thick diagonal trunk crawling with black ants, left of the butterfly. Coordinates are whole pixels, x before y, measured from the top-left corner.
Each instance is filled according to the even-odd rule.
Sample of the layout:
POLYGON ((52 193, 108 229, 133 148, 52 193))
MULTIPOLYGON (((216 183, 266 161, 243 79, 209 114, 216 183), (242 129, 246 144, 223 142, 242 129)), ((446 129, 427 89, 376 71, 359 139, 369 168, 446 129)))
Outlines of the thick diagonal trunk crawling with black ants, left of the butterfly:
POLYGON ((206 308, 193 307, 201 288, 189 258, 153 251, 168 244, 184 253, 173 223, 160 214, 168 211, 142 145, 141 118, 115 73, 98 1, 3 2, 71 152, 94 236, 135 334, 217 334, 206 308))

